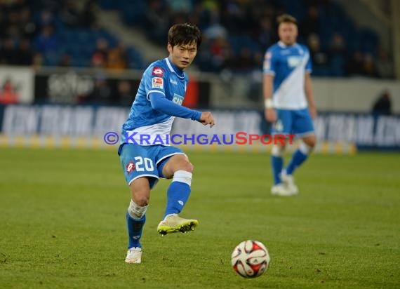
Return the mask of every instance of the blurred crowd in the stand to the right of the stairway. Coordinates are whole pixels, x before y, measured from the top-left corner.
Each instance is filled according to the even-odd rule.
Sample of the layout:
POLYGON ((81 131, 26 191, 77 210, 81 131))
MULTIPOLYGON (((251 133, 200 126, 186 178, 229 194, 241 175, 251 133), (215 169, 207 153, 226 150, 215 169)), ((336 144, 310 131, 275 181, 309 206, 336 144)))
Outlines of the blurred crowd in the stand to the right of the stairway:
POLYGON ((168 27, 192 22, 204 32, 204 44, 196 59, 201 70, 248 72, 262 67, 265 50, 278 40, 276 16, 298 18, 299 42, 309 46, 317 76, 393 76, 391 55, 380 48, 370 29, 356 27, 331 0, 128 0, 119 8, 128 25, 142 27, 149 39, 164 46, 168 27), (135 17, 131 14, 135 13, 135 17))

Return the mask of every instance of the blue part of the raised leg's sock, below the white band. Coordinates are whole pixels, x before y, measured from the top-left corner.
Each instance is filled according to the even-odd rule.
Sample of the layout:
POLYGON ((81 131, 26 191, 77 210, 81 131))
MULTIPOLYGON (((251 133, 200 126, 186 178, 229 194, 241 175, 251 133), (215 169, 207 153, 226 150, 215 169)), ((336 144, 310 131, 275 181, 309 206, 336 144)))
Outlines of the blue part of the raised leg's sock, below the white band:
POLYGON ((185 182, 173 181, 167 191, 167 206, 164 217, 169 214, 179 214, 190 195, 190 186, 185 182))

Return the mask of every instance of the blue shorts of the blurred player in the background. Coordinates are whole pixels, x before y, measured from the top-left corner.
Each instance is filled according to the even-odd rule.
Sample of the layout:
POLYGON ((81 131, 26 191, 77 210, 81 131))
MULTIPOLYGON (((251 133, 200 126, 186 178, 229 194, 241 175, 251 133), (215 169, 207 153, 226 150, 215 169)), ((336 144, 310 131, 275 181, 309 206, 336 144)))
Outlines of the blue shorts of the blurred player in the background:
POLYGON ((272 135, 294 134, 296 137, 303 137, 314 133, 309 110, 305 109, 275 109, 276 121, 272 126, 272 135))

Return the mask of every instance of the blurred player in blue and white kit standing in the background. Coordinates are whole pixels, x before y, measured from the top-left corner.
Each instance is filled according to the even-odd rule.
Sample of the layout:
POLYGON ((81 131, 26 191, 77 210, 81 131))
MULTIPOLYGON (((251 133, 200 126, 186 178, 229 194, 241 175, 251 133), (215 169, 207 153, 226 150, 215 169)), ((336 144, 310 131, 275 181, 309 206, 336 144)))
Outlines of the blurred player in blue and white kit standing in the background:
POLYGON ((272 134, 295 134, 300 145, 284 168, 285 144, 272 146, 274 185, 278 196, 298 194, 293 173, 309 156, 316 144, 312 119, 316 106, 311 82, 311 60, 306 46, 296 43, 297 20, 288 14, 277 18, 279 42, 265 53, 263 91, 265 118, 273 123, 272 134))

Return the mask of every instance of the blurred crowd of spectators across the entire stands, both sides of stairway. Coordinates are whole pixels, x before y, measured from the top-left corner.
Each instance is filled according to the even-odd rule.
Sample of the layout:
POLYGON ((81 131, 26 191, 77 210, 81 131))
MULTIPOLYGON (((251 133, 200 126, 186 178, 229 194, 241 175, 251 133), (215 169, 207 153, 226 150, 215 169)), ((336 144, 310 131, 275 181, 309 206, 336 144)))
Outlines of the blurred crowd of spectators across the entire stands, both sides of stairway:
POLYGON ((316 76, 391 78, 392 55, 332 0, 0 0, 0 65, 142 69, 140 52, 98 25, 98 8, 119 10, 155 45, 168 28, 192 22, 204 32, 196 65, 204 72, 260 70, 275 43, 276 16, 299 21, 316 76))

